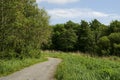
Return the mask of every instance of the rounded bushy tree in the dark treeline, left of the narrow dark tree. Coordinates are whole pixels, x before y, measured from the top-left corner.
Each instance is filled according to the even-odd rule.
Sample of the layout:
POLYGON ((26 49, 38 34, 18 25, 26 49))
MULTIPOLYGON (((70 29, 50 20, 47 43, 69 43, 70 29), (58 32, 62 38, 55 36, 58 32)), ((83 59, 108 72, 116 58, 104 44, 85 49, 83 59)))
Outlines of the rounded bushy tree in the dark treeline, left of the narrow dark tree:
POLYGON ((77 41, 77 35, 75 34, 74 30, 69 29, 64 31, 59 37, 59 41, 58 41, 59 50, 73 51, 76 41, 77 41))

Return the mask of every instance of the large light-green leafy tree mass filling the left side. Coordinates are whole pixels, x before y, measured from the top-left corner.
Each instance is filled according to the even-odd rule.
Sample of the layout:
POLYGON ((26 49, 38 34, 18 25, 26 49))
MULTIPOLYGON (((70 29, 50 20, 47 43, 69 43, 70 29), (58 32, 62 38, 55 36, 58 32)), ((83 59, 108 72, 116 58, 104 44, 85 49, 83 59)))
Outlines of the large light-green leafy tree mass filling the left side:
POLYGON ((49 16, 36 0, 0 1, 0 59, 38 57, 50 34, 49 16))

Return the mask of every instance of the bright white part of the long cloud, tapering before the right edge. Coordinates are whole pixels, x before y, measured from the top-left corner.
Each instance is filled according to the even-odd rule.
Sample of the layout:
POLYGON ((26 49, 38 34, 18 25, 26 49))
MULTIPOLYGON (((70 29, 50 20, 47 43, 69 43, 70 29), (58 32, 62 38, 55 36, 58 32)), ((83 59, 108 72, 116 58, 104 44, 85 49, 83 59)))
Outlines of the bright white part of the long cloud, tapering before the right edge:
POLYGON ((93 11, 91 9, 51 9, 47 10, 53 18, 99 18, 108 17, 109 14, 93 11))

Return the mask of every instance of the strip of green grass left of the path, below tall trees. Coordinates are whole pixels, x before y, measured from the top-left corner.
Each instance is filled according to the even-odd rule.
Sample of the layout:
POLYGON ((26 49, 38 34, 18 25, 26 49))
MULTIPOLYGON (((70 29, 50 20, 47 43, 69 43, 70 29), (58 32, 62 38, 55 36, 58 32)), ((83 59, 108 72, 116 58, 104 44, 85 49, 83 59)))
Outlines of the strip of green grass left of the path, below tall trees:
POLYGON ((25 67, 33 65, 38 62, 47 60, 43 55, 40 58, 25 58, 25 59, 11 59, 0 60, 0 77, 11 74, 15 71, 21 70, 25 67))

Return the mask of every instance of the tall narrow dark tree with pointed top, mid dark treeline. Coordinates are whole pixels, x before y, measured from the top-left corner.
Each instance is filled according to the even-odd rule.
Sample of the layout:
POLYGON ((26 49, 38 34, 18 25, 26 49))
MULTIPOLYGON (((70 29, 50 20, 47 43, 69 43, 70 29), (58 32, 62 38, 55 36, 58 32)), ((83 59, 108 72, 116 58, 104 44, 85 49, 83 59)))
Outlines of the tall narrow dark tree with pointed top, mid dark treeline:
POLYGON ((92 36, 89 24, 82 20, 78 29, 78 41, 77 48, 82 52, 90 52, 90 47, 92 46, 92 36))

